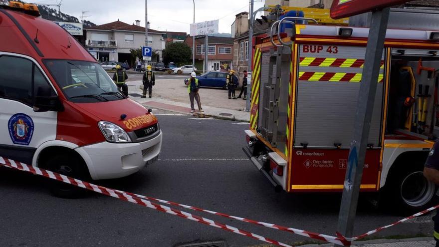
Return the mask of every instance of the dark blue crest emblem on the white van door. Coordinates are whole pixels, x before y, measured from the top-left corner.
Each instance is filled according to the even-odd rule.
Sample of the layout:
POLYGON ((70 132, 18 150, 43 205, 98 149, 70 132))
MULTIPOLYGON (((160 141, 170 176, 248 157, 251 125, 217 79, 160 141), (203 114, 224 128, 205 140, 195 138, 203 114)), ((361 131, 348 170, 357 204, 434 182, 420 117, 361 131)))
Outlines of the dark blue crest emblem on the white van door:
POLYGON ((7 128, 13 144, 29 145, 34 128, 32 118, 26 114, 17 113, 9 118, 7 128))

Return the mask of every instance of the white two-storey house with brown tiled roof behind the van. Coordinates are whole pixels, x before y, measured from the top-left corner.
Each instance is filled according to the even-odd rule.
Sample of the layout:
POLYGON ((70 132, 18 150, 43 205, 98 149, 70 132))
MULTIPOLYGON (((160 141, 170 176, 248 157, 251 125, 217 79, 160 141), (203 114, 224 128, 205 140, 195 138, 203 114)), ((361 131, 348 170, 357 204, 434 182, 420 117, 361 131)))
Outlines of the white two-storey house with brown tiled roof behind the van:
MULTIPOLYGON (((145 46, 145 27, 140 21, 128 24, 122 21, 85 28, 88 51, 100 61, 132 62, 130 49, 139 49, 145 46)), ((163 60, 165 49, 165 35, 157 30, 148 28, 148 46, 159 56, 152 62, 163 60)))

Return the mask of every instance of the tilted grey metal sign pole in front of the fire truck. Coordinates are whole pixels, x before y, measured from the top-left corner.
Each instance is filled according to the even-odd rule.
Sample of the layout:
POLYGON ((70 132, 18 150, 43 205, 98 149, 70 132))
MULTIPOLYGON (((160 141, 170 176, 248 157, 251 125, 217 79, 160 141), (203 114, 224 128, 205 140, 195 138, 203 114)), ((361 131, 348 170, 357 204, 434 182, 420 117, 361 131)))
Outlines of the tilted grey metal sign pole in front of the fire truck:
POLYGON ((348 156, 348 167, 338 216, 338 232, 353 236, 358 194, 360 193, 363 164, 369 139, 370 122, 377 91, 378 75, 383 56, 389 8, 372 12, 372 22, 366 48, 363 76, 358 95, 355 128, 348 156))

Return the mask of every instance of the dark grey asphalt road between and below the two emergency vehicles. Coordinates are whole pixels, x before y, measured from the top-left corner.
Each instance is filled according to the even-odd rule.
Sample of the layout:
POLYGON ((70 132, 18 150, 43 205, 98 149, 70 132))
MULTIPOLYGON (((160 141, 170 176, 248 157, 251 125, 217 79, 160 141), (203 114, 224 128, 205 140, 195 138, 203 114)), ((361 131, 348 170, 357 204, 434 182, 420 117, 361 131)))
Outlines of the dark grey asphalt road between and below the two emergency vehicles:
MULTIPOLYGON (((246 125, 154 112, 164 133, 160 160, 127 178, 97 184, 257 221, 335 233, 340 195, 274 193, 241 151, 246 125)), ((91 192, 80 199, 55 198, 48 193, 45 178, 6 168, 0 168, 0 188, 1 247, 171 247, 213 240, 236 247, 262 244, 91 192)), ((360 198, 357 234, 400 219, 374 209, 364 195, 360 198)), ((308 240, 184 211, 289 244, 308 240)), ((400 224, 374 237, 430 235, 433 224, 423 221, 428 221, 428 217, 418 223, 400 224)))

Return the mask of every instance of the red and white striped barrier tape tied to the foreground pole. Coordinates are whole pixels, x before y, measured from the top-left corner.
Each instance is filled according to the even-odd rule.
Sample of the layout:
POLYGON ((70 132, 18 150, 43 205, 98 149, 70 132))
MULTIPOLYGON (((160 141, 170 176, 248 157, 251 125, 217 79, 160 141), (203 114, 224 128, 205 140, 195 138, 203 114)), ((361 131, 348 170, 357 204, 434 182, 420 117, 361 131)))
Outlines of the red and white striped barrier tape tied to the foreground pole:
POLYGON ((117 199, 120 199, 123 201, 134 203, 134 204, 139 204, 141 206, 155 209, 155 210, 167 213, 167 214, 176 215, 176 216, 188 219, 188 220, 192 220, 192 221, 196 221, 196 222, 199 222, 199 223, 202 223, 205 225, 220 228, 220 229, 223 229, 223 230, 228 231, 228 232, 232 232, 235 234, 243 235, 243 236, 246 236, 246 237, 249 237, 252 239, 260 240, 260 241, 263 241, 266 243, 270 243, 270 244, 274 244, 274 245, 278 245, 278 246, 283 246, 283 247, 291 247, 291 246, 286 245, 286 244, 281 243, 281 242, 278 242, 278 241, 275 241, 275 240, 271 240, 271 239, 253 234, 253 233, 250 233, 250 232, 247 232, 247 231, 243 231, 243 230, 240 230, 240 229, 228 226, 228 225, 224 225, 224 224, 206 219, 204 217, 196 216, 196 215, 186 213, 186 212, 183 212, 180 210, 176 210, 176 209, 173 209, 170 207, 155 204, 151 201, 156 201, 156 202, 160 202, 160 203, 164 203, 164 204, 168 204, 168 205, 173 205, 173 206, 179 206, 182 208, 195 210, 195 211, 199 211, 199 212, 209 213, 209 214, 213 214, 213 215, 217 215, 217 216, 221 216, 221 217, 225 217, 225 218, 230 218, 230 219, 234 219, 234 220, 238 220, 238 221, 242 221, 242 222, 246 222, 246 223, 250 223, 250 224, 254 224, 254 225, 258 225, 258 226, 263 226, 263 227, 276 229, 276 230, 280 230, 280 231, 284 231, 284 232, 288 232, 288 233, 293 233, 293 234, 300 235, 303 237, 321 240, 321 241, 325 241, 325 242, 333 243, 333 244, 337 244, 337 245, 342 245, 342 246, 350 246, 351 242, 363 239, 367 236, 378 233, 384 229, 398 225, 400 223, 411 220, 413 218, 425 215, 425 214, 439 208, 439 205, 437 205, 435 207, 429 208, 429 209, 424 210, 420 213, 414 214, 414 215, 409 216, 407 218, 404 218, 400 221, 397 221, 393 224, 377 228, 375 230, 369 231, 369 232, 362 234, 362 235, 359 235, 357 237, 345 238, 344 236, 340 235, 339 233, 337 233, 338 237, 333 237, 333 236, 329 236, 329 235, 317 234, 317 233, 312 233, 312 232, 303 231, 303 230, 299 230, 299 229, 283 227, 283 226, 279 226, 279 225, 275 225, 275 224, 258 222, 258 221, 254 221, 254 220, 250 220, 250 219, 245 219, 245 218, 241 218, 241 217, 222 214, 222 213, 218 213, 215 211, 205 210, 205 209, 192 207, 192 206, 188 206, 188 205, 184 205, 184 204, 179 204, 179 203, 175 203, 175 202, 171 202, 171 201, 156 199, 153 197, 137 195, 137 194, 124 192, 124 191, 120 191, 120 190, 109 189, 109 188, 106 188, 103 186, 94 185, 94 184, 84 182, 84 181, 81 181, 78 179, 73 179, 73 178, 70 178, 70 177, 55 173, 55 172, 47 171, 47 170, 40 169, 37 167, 28 166, 26 164, 22 164, 20 162, 15 162, 13 160, 9 160, 9 159, 3 158, 1 156, 0 156, 0 165, 3 165, 3 166, 8 167, 8 168, 20 170, 20 171, 30 172, 32 174, 40 175, 40 176, 47 177, 47 178, 50 178, 53 180, 58 180, 60 182, 64 182, 64 183, 71 184, 71 185, 74 185, 77 187, 81 187, 81 188, 84 188, 84 189, 87 189, 90 191, 94 191, 94 192, 97 192, 97 193, 100 193, 100 194, 103 194, 106 196, 114 197, 114 198, 117 198, 117 199))

